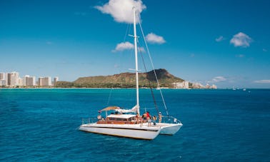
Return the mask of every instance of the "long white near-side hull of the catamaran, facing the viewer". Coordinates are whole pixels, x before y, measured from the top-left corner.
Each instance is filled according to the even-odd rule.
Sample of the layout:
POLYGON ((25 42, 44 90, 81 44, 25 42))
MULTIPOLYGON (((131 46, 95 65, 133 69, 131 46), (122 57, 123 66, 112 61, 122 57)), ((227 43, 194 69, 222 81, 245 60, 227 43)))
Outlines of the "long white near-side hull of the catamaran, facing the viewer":
POLYGON ((111 136, 152 140, 159 135, 161 128, 139 126, 139 124, 96 124, 88 123, 79 127, 80 131, 111 136))

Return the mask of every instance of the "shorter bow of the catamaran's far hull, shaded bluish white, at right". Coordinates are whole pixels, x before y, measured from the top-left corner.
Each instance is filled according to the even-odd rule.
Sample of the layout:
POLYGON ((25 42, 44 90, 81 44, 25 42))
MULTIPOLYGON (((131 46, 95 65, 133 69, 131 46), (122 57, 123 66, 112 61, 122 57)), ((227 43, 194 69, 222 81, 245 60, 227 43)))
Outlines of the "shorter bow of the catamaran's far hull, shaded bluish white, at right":
POLYGON ((157 126, 160 126, 161 131, 159 134, 162 135, 174 135, 181 126, 183 126, 182 123, 157 123, 157 126))

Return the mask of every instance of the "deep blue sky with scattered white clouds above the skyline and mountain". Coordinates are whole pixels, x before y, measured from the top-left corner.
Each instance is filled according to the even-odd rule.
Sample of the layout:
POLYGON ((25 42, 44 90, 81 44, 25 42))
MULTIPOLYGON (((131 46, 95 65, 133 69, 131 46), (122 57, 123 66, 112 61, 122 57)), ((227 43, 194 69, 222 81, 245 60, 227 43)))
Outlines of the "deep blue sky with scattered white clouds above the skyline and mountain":
POLYGON ((129 13, 121 12, 133 3, 156 69, 219 88, 270 88, 270 1, 263 0, 1 0, 0 71, 74 81, 134 69, 129 13))

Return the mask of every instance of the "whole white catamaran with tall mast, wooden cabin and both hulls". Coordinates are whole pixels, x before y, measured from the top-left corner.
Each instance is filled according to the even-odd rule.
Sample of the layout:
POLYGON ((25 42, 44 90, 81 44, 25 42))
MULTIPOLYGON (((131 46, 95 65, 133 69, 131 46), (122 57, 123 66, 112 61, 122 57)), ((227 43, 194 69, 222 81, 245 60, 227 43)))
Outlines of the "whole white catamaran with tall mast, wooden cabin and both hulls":
MULTIPOLYGON (((174 117, 169 116, 169 113, 166 108, 166 104, 164 102, 164 97, 161 92, 161 88, 159 88, 159 81, 156 76, 156 71, 154 70, 154 75, 156 77, 157 89, 161 93, 162 101, 164 102, 164 107, 166 109, 166 116, 161 116, 162 118, 160 122, 157 123, 144 123, 141 119, 138 118, 140 116, 140 106, 139 106, 139 69, 138 69, 138 49, 137 49, 137 39, 136 35, 136 11, 135 7, 133 7, 133 26, 134 26, 134 54, 135 54, 135 75, 136 75, 136 105, 131 109, 123 109, 119 106, 109 106, 107 108, 103 108, 100 112, 104 111, 114 111, 116 113, 112 113, 106 118, 89 118, 89 120, 84 120, 79 127, 79 130, 91 132, 91 133, 100 133, 111 136, 122 136, 128 138, 139 138, 139 139, 148 139, 152 140, 156 138, 159 134, 164 135, 174 135, 183 124, 181 121, 177 120, 174 117), (128 114, 126 114, 128 113, 128 114), (136 115, 135 115, 136 114, 136 115), (162 122, 161 122, 162 121, 162 122)), ((143 31, 142 31, 143 33, 143 31)), ((144 34, 143 34, 144 36, 144 34)), ((144 38, 145 40, 145 38, 144 38)), ((145 41, 146 43, 146 41, 145 41)), ((146 45, 146 49, 148 47, 146 45)), ((149 55, 150 56, 150 55, 149 55)), ((150 56, 151 59, 151 56, 150 56)), ((152 63, 152 61, 151 61, 152 63)), ((152 64, 154 69, 154 65, 152 64)))

